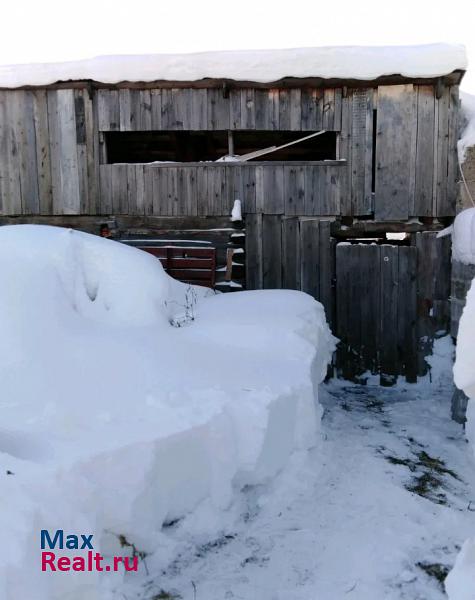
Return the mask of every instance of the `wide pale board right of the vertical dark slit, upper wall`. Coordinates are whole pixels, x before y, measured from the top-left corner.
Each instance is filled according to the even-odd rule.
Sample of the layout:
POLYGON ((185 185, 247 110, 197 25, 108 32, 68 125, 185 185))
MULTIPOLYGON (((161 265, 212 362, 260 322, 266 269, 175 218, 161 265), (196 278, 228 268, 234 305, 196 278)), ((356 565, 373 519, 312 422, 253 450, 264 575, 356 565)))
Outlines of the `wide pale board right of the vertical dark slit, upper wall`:
POLYGON ((405 220, 409 217, 413 94, 412 85, 378 88, 375 190, 377 220, 405 220))

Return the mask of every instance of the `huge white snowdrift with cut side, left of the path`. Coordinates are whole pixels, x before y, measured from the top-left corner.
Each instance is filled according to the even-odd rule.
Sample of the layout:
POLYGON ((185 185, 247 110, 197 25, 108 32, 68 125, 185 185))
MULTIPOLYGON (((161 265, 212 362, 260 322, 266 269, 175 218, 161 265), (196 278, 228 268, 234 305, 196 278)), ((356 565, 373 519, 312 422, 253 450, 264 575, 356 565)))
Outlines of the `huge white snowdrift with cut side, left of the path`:
POLYGON ((335 340, 306 294, 213 295, 140 250, 20 225, 0 229, 0 314, 1 600, 109 597, 121 573, 41 573, 40 530, 157 556, 165 522, 200 507, 212 528, 318 441, 335 340))

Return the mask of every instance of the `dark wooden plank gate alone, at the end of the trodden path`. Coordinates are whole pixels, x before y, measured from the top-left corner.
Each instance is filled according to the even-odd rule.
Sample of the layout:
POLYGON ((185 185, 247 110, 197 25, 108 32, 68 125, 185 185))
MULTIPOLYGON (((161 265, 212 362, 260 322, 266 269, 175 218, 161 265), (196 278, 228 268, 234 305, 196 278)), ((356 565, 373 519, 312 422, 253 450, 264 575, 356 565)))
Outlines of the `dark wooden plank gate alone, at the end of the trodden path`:
POLYGON ((387 383, 417 379, 417 249, 342 243, 336 247, 338 370, 387 383))

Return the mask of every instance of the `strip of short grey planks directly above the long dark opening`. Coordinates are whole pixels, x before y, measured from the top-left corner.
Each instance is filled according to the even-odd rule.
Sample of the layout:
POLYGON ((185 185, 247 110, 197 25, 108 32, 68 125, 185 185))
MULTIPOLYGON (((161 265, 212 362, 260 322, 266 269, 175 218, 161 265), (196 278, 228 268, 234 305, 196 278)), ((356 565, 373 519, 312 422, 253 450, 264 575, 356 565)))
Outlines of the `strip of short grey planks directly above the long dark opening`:
POLYGON ((340 131, 342 89, 97 91, 100 131, 340 131))

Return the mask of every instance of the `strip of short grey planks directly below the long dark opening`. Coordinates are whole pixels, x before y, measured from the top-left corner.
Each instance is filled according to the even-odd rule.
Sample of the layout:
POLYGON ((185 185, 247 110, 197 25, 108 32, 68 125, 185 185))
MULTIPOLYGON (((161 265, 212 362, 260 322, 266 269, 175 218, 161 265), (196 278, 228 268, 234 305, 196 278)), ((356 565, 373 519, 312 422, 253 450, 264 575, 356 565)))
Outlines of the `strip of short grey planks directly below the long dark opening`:
POLYGON ((227 216, 240 199, 244 212, 251 214, 337 215, 343 170, 334 161, 100 165, 99 212, 227 216))

